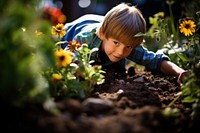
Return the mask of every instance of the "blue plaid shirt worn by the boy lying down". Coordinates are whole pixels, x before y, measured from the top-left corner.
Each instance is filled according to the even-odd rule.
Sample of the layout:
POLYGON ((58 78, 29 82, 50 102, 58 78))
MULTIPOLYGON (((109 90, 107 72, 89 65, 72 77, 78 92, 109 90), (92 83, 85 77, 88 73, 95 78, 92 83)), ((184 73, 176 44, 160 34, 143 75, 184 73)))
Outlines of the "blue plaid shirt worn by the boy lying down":
MULTIPOLYGON (((72 41, 77 40, 81 44, 87 43, 90 49, 99 48, 102 40, 97 36, 96 30, 101 25, 104 16, 87 14, 84 15, 71 23, 66 23, 65 28, 67 29, 66 35, 63 37, 63 40, 72 41)), ((64 49, 67 44, 63 44, 62 48, 64 49)), ((163 60, 169 60, 169 57, 165 54, 157 54, 152 51, 148 51, 142 45, 133 49, 127 59, 146 67, 147 70, 152 72, 160 71, 160 65, 163 60)), ((113 64, 107 57, 107 55, 98 51, 93 53, 92 60, 97 64, 102 66, 108 66, 113 64)), ((121 67, 125 67, 126 59, 119 61, 121 67)))

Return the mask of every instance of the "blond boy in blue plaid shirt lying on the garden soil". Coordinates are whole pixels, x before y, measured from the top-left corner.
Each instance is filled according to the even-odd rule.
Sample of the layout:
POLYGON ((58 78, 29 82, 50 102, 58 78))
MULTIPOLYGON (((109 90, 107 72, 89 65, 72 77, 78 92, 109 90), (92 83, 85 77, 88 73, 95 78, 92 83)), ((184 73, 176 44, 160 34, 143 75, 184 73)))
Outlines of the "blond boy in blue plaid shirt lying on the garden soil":
MULTIPOLYGON (((178 77, 181 83, 185 70, 169 61, 164 54, 148 51, 141 43, 146 22, 135 7, 121 3, 113 7, 105 16, 88 14, 65 24, 67 34, 63 40, 76 40, 88 44, 89 48, 99 48, 92 55, 94 64, 116 71, 125 71, 126 59, 145 66, 151 72, 163 72, 178 77)), ((66 48, 63 44, 62 48, 66 48)))

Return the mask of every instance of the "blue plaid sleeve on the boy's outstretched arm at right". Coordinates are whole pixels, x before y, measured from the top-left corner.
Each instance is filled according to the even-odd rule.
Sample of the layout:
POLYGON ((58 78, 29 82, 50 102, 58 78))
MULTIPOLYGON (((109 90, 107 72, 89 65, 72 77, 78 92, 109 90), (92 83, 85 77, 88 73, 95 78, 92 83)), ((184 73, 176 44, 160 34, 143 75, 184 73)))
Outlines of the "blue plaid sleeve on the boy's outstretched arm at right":
POLYGON ((160 71, 160 65, 163 60, 170 60, 167 55, 148 51, 142 45, 134 49, 128 59, 145 66, 148 71, 152 72, 160 71))

